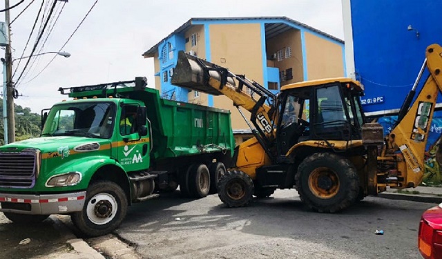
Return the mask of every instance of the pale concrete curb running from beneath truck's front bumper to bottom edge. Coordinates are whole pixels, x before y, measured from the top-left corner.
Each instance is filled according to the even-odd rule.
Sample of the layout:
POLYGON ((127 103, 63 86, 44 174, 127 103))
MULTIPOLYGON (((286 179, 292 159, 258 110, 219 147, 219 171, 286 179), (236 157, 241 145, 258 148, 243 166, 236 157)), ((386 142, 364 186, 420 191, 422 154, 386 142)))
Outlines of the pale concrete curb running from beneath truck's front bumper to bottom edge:
POLYGON ((68 227, 66 227, 64 222, 57 218, 57 216, 50 215, 50 219, 54 222, 55 229, 57 229, 61 235, 65 236, 68 239, 66 241, 66 244, 72 247, 75 255, 78 256, 78 258, 106 259, 101 253, 90 247, 89 244, 83 239, 77 238, 68 229, 68 227))

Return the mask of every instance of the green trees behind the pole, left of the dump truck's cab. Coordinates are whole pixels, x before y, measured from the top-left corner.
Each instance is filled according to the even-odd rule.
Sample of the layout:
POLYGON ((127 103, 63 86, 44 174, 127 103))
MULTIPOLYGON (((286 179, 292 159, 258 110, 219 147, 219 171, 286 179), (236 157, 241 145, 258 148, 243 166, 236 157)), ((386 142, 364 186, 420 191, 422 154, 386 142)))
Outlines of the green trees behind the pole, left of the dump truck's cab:
MULTIPOLYGON (((41 116, 38 113, 32 113, 30 108, 21 107, 15 104, 15 139, 27 140, 32 137, 39 137, 41 116)), ((3 115, 3 99, 0 98, 0 112, 3 115)), ((0 144, 4 144, 3 134, 3 116, 0 119, 0 144)))

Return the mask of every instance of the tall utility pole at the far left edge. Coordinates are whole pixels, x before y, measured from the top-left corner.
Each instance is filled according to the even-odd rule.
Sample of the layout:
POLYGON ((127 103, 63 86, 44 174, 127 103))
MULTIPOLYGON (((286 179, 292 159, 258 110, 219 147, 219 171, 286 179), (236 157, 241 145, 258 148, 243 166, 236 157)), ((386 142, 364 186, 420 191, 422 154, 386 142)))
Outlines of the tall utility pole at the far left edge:
MULTIPOLYGON (((8 29, 8 45, 6 46, 5 60, 6 60, 6 103, 8 110, 6 111, 8 121, 8 142, 15 142, 15 111, 14 111, 14 84, 12 84, 12 55, 11 55, 11 25, 9 13, 9 0, 5 0, 5 19, 6 28, 8 29)), ((3 93, 3 102, 5 99, 3 93)))

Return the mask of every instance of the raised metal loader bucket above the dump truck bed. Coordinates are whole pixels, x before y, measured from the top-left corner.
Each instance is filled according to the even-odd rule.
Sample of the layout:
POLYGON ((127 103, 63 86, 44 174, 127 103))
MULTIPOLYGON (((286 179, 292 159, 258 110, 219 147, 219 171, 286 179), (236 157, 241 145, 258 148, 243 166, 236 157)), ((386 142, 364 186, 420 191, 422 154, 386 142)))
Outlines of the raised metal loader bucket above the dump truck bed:
MULTIPOLYGON (((210 77, 222 81, 221 69, 215 64, 180 51, 171 82, 175 86, 198 90, 202 93, 222 95, 219 90, 207 84, 205 76, 206 73, 209 73, 210 77)), ((232 77, 227 77, 227 84, 235 86, 235 81, 233 81, 232 77)))

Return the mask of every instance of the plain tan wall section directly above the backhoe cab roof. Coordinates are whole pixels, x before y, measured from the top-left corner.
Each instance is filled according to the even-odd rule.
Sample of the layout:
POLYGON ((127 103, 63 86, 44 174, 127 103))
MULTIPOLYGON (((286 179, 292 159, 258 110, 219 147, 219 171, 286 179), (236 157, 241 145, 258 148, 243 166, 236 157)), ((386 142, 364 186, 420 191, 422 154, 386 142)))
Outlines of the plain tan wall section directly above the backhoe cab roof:
POLYGON ((307 56, 307 80, 344 77, 344 49, 342 46, 304 32, 307 56))

